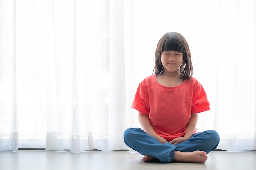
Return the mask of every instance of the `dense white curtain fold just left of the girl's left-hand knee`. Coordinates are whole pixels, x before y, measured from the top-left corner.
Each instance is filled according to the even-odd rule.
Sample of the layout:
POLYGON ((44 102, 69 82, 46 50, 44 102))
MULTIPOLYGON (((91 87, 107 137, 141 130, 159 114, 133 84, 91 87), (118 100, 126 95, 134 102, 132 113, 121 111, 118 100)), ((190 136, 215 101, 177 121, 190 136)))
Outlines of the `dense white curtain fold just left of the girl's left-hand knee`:
POLYGON ((126 74, 124 47, 124 2, 110 0, 109 3, 109 150, 126 149, 123 138, 126 124, 126 74))

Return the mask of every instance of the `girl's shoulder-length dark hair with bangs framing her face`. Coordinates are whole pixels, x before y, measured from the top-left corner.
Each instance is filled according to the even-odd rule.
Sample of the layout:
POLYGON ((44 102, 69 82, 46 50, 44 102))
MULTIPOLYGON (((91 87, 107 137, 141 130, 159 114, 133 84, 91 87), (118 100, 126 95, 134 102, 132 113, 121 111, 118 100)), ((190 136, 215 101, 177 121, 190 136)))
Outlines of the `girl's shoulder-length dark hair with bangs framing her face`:
POLYGON ((163 51, 178 51, 183 53, 183 62, 180 66, 180 78, 191 79, 193 74, 193 66, 191 60, 191 53, 189 50, 189 44, 186 39, 176 32, 165 33, 157 44, 155 50, 155 75, 159 75, 163 68, 161 63, 161 54, 163 51))

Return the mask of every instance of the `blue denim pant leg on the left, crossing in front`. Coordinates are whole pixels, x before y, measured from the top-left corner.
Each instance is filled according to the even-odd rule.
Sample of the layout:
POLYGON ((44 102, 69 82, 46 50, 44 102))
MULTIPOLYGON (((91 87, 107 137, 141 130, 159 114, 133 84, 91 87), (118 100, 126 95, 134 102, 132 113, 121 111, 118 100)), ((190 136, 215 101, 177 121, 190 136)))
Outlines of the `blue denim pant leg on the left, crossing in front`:
POLYGON ((170 143, 161 144, 155 137, 148 135, 141 128, 126 129, 124 131, 124 142, 142 155, 150 155, 159 159, 162 163, 174 161, 176 146, 170 143))

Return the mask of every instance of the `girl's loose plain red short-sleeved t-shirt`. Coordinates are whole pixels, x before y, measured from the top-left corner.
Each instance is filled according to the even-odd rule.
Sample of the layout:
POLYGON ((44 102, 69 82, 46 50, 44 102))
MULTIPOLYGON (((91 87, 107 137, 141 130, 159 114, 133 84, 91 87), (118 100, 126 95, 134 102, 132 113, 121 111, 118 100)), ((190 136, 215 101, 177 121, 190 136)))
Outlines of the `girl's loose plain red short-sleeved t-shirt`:
POLYGON ((191 113, 210 110, 204 88, 194 77, 167 87, 157 82, 157 75, 139 84, 131 108, 147 115, 155 132, 167 141, 184 136, 191 113))

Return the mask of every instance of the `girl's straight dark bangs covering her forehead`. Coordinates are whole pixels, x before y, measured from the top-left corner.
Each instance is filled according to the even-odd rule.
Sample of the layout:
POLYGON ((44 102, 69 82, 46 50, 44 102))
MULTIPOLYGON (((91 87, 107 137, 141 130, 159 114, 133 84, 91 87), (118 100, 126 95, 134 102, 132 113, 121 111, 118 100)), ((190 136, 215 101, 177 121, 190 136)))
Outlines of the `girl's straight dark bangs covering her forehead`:
POLYGON ((184 42, 182 41, 183 37, 178 36, 174 33, 167 33, 165 40, 162 44, 163 51, 178 51, 184 53, 186 50, 184 48, 184 42))

